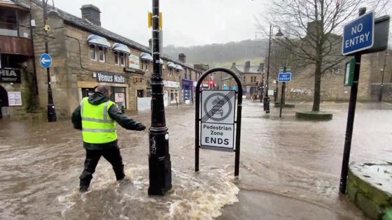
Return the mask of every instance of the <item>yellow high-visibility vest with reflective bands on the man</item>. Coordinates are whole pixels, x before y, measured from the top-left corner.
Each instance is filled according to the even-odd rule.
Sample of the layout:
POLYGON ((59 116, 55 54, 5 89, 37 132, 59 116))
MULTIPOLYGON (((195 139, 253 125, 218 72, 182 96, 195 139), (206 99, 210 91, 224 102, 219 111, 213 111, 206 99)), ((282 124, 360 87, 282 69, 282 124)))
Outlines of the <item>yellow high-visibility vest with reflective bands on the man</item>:
POLYGON ((117 140, 116 123, 109 116, 108 110, 113 101, 106 101, 99 105, 92 105, 88 98, 80 103, 82 115, 83 141, 92 144, 103 144, 117 140))

